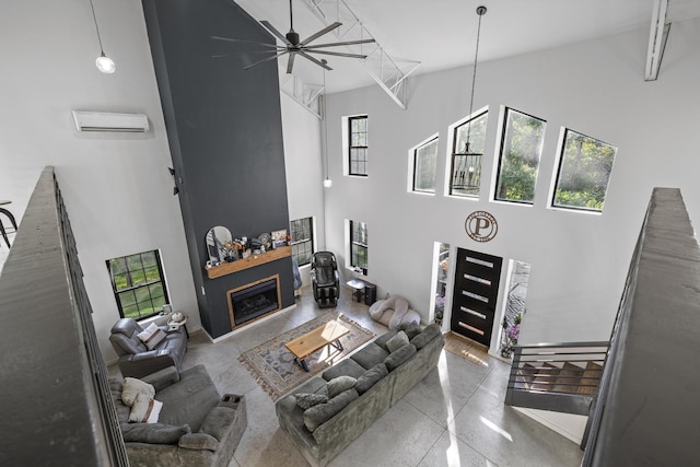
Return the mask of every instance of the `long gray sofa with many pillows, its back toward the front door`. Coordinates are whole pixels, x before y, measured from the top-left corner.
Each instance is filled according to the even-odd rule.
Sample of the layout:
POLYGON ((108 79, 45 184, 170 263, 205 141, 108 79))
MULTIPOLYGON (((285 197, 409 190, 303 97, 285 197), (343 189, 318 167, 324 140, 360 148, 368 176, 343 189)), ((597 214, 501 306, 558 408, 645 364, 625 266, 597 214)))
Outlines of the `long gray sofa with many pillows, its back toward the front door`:
POLYGON ((422 330, 402 324, 278 400, 280 427, 312 465, 326 465, 436 366, 444 342, 435 324, 422 330), (399 331, 409 342, 397 349, 392 339, 399 331), (346 383, 346 376, 355 380, 353 386, 335 395, 330 386, 346 383), (304 410, 298 396, 307 395, 328 400, 304 410))

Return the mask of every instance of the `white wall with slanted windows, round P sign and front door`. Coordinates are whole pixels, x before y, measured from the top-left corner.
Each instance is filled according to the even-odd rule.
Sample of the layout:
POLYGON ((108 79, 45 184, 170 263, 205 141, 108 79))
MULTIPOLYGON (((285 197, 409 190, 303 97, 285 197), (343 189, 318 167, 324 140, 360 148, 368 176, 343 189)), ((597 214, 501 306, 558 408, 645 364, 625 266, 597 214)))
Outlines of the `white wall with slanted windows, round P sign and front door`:
POLYGON ((328 247, 343 252, 345 219, 368 222, 368 279, 377 283, 380 296, 405 295, 425 320, 433 242, 501 256, 504 265, 508 259, 529 262, 521 342, 606 340, 652 188, 681 188, 691 219, 700 219, 693 138, 700 128, 700 21, 673 25, 656 82, 643 81, 648 34, 479 63, 474 108, 490 108, 479 200, 440 195, 448 167, 446 129, 468 113, 470 69, 411 78, 407 110, 377 86, 330 95, 328 247), (487 200, 503 105, 548 121, 533 207, 487 200), (342 176, 340 121, 354 114, 369 115, 366 178, 342 176), (602 215, 547 209, 561 126, 618 148, 602 215), (439 195, 408 194, 406 152, 435 131, 443 154, 439 195), (499 221, 493 241, 477 244, 466 235, 465 218, 475 210, 499 221))

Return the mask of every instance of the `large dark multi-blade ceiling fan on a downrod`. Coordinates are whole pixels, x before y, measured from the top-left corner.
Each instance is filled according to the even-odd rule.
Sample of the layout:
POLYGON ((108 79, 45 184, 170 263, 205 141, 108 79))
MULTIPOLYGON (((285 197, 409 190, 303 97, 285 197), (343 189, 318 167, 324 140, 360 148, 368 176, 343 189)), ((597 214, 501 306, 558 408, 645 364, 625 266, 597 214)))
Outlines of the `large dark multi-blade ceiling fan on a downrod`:
MULTIPOLYGON (((294 67, 294 58, 296 58, 296 56, 301 56, 304 57, 307 60, 313 61, 314 63, 316 63, 319 67, 325 68, 326 70, 332 70, 332 68, 330 68, 327 65, 326 60, 318 60, 316 57, 312 57, 311 54, 322 54, 322 55, 334 55, 337 57, 350 57, 350 58, 366 58, 366 55, 362 55, 362 54, 348 54, 348 52, 341 52, 341 51, 332 51, 332 50, 319 50, 319 49, 324 49, 327 47, 338 47, 338 46, 351 46, 351 45, 358 45, 358 44, 369 44, 369 43, 373 43, 374 39, 360 39, 360 40, 346 40, 346 42, 339 42, 339 43, 329 43, 329 44, 318 44, 318 45, 310 45, 312 42, 316 40, 318 37, 340 27, 342 25, 342 23, 338 23, 335 22, 326 27, 324 27, 323 30, 318 31, 315 34, 312 34, 311 36, 306 37, 304 40, 300 40, 299 39, 299 33, 296 33, 294 31, 294 16, 292 14, 292 0, 289 0, 289 22, 290 22, 290 27, 289 27, 289 33, 287 34, 282 34, 280 33, 277 28, 275 28, 275 26, 272 26, 268 21, 260 21, 260 23, 270 32, 272 33, 276 37, 278 37, 280 40, 282 40, 282 43, 284 44, 283 46, 279 46, 277 44, 267 44, 267 43, 256 43, 256 42, 252 42, 252 40, 243 40, 243 39, 233 39, 233 38, 229 38, 229 37, 220 37, 220 36, 211 36, 211 38, 213 39, 218 39, 218 40, 228 40, 228 42, 234 42, 234 43, 250 43, 250 44, 257 44, 260 46, 265 46, 270 48, 270 50, 265 50, 264 52, 268 52, 268 54, 273 54, 270 57, 264 58, 262 60, 256 61, 255 63, 248 65, 247 67, 244 67, 244 70, 247 70, 249 68, 253 68, 257 65, 264 63, 266 61, 270 61, 270 60, 275 60, 278 57, 281 57, 283 55, 288 55, 289 54, 289 60, 287 61, 287 72, 291 73, 292 72, 292 68, 294 67)), ((226 54, 228 55, 228 54, 226 54)), ((214 55, 213 57, 223 57, 224 55, 214 55)))

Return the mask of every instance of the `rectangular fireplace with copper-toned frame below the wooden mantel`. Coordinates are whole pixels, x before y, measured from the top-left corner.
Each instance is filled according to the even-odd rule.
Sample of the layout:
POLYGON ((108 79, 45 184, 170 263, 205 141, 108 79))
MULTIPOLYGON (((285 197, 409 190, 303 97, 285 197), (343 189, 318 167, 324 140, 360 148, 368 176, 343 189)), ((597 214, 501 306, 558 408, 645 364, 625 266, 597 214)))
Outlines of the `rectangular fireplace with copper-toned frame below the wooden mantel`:
POLYGON ((235 328, 281 310, 279 275, 226 292, 231 326, 235 328))

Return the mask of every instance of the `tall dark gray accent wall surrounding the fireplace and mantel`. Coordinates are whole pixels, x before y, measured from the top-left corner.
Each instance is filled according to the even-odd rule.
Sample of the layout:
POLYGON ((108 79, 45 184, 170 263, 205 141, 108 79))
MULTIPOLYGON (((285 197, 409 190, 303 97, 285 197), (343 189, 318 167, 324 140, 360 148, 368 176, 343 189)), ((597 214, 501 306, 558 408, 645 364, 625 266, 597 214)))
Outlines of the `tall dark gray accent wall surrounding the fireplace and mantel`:
POLYGON ((219 337, 231 331, 228 290, 279 273, 282 306, 294 304, 290 258, 217 279, 203 270, 212 226, 233 237, 289 227, 277 61, 243 70, 262 47, 211 36, 275 39, 230 0, 142 2, 201 323, 219 337))

